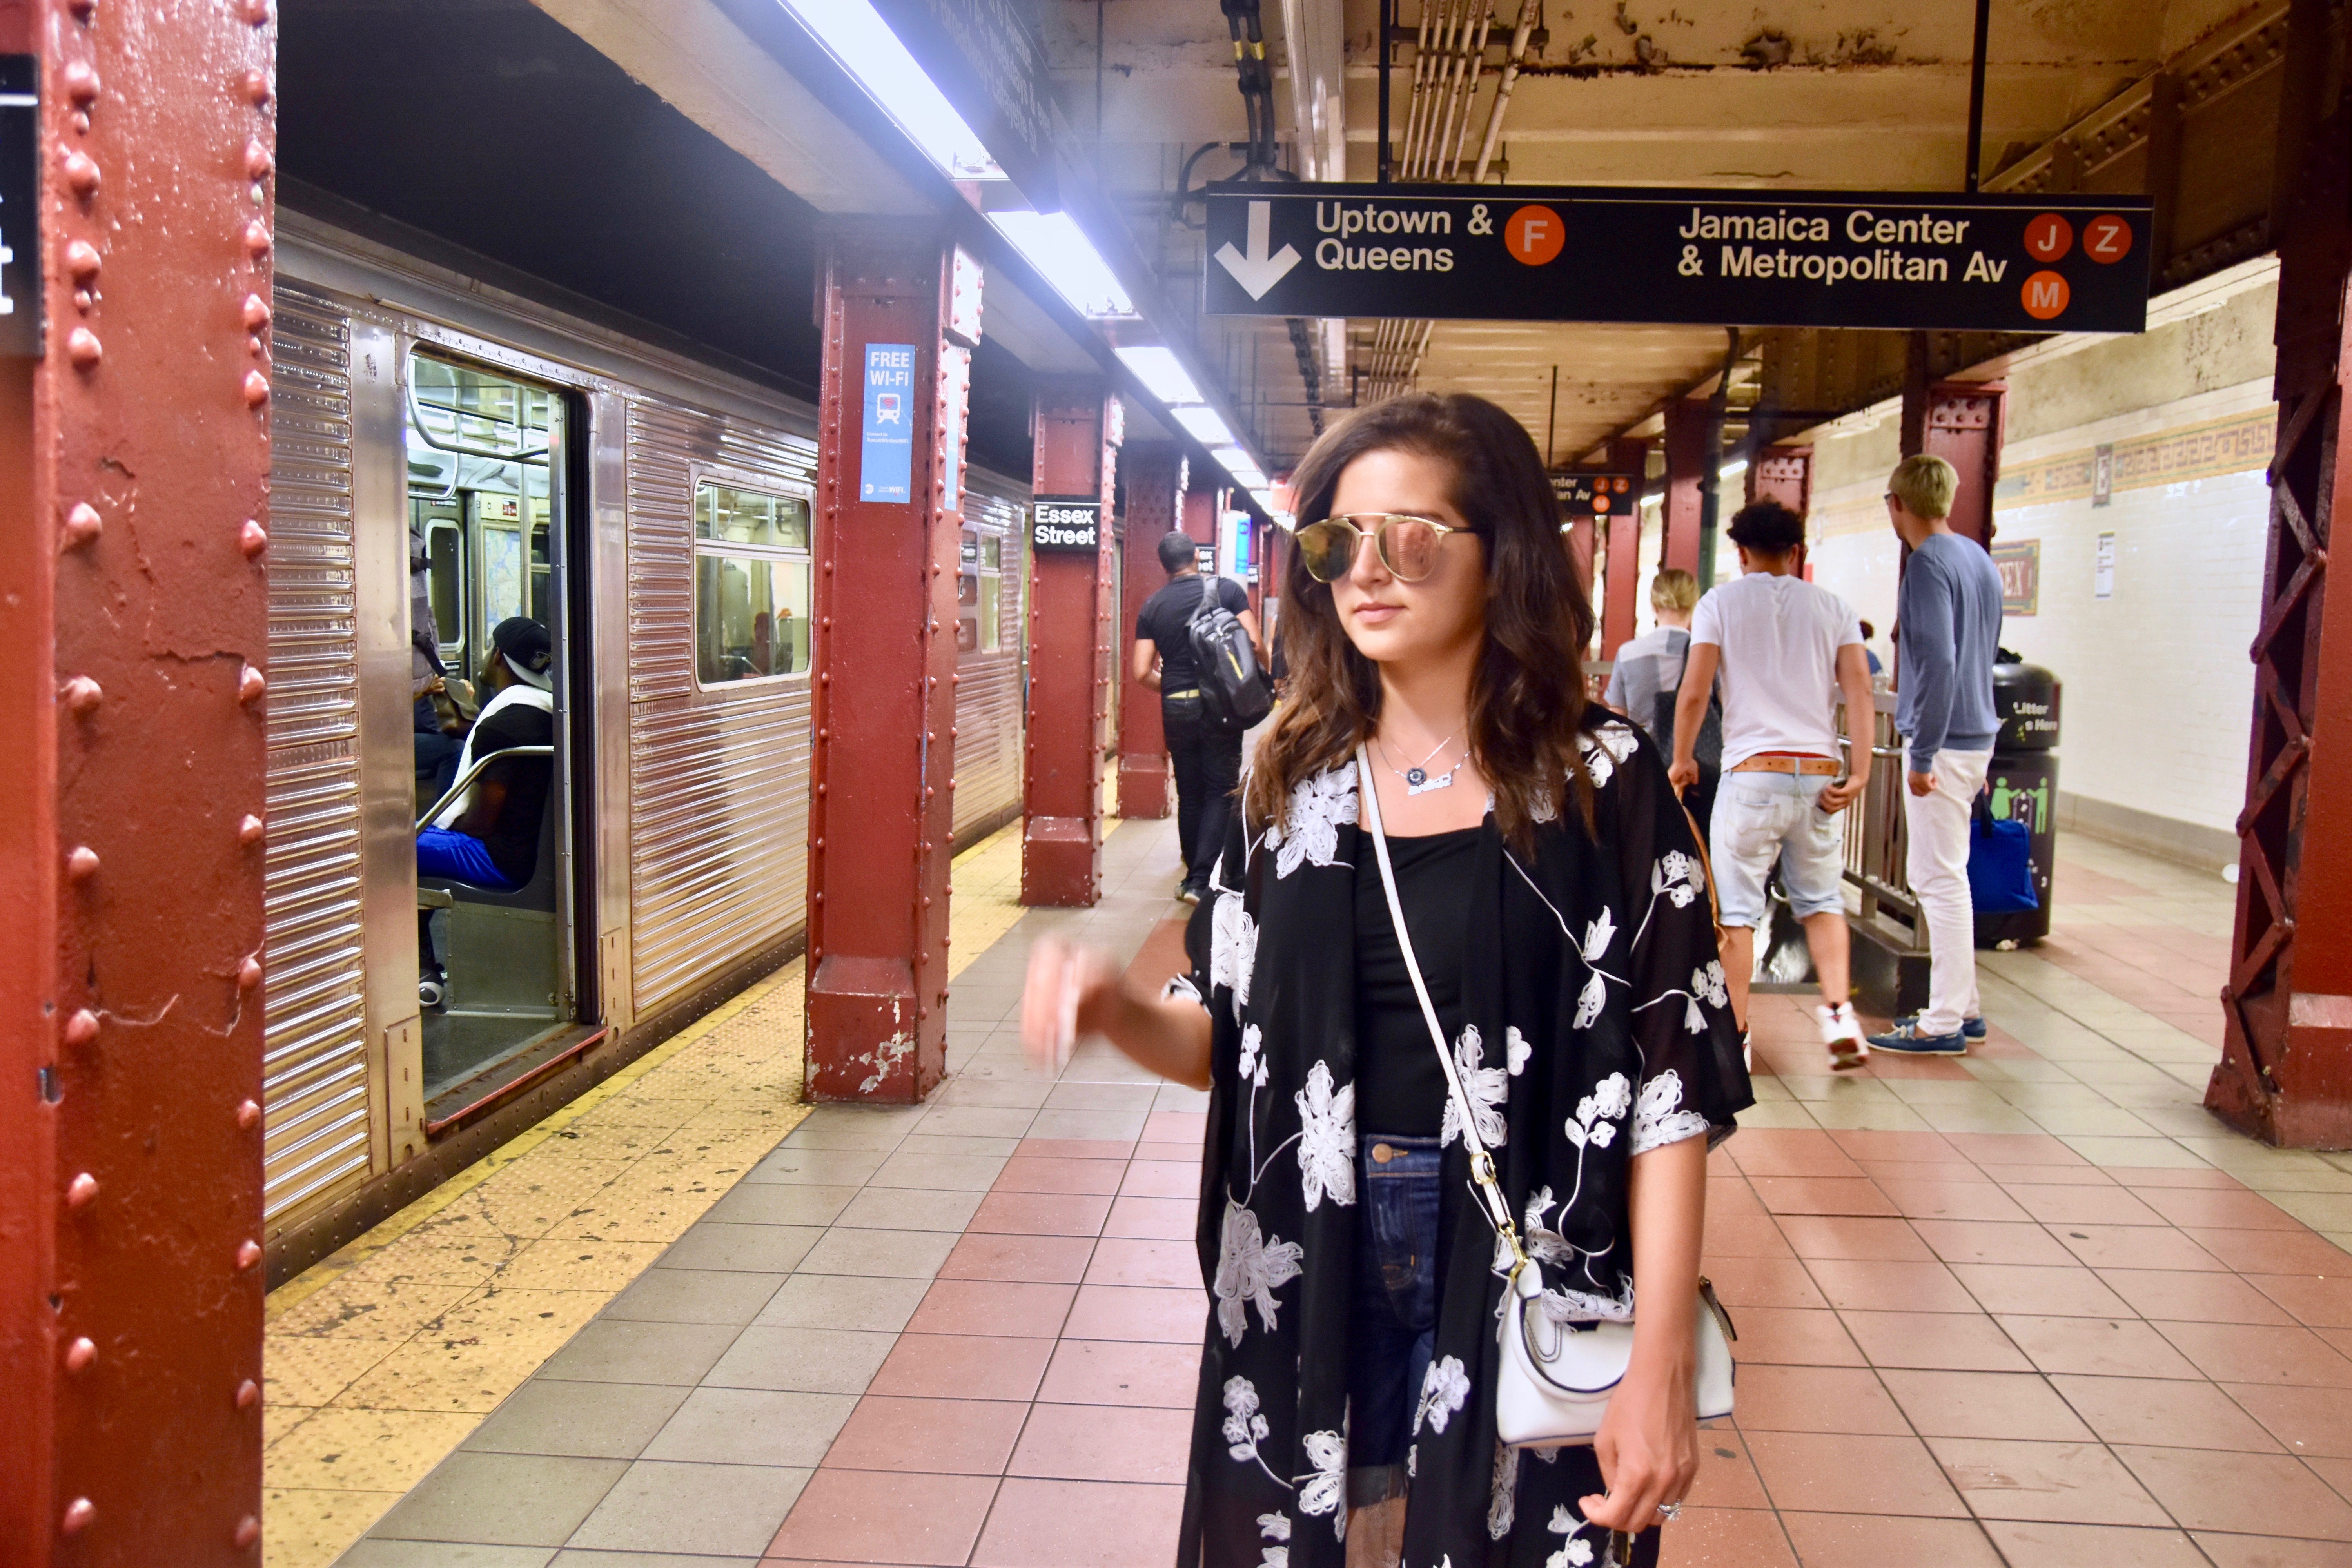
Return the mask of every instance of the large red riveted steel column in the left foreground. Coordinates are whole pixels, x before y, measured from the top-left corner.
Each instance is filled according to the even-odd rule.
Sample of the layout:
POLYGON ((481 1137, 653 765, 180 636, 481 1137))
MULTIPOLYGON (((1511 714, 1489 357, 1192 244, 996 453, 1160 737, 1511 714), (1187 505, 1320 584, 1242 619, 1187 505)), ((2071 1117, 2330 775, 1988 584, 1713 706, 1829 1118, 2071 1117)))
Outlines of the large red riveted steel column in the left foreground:
POLYGON ((7 1563, 261 1561, 270 12, 0 5, 7 1563))

